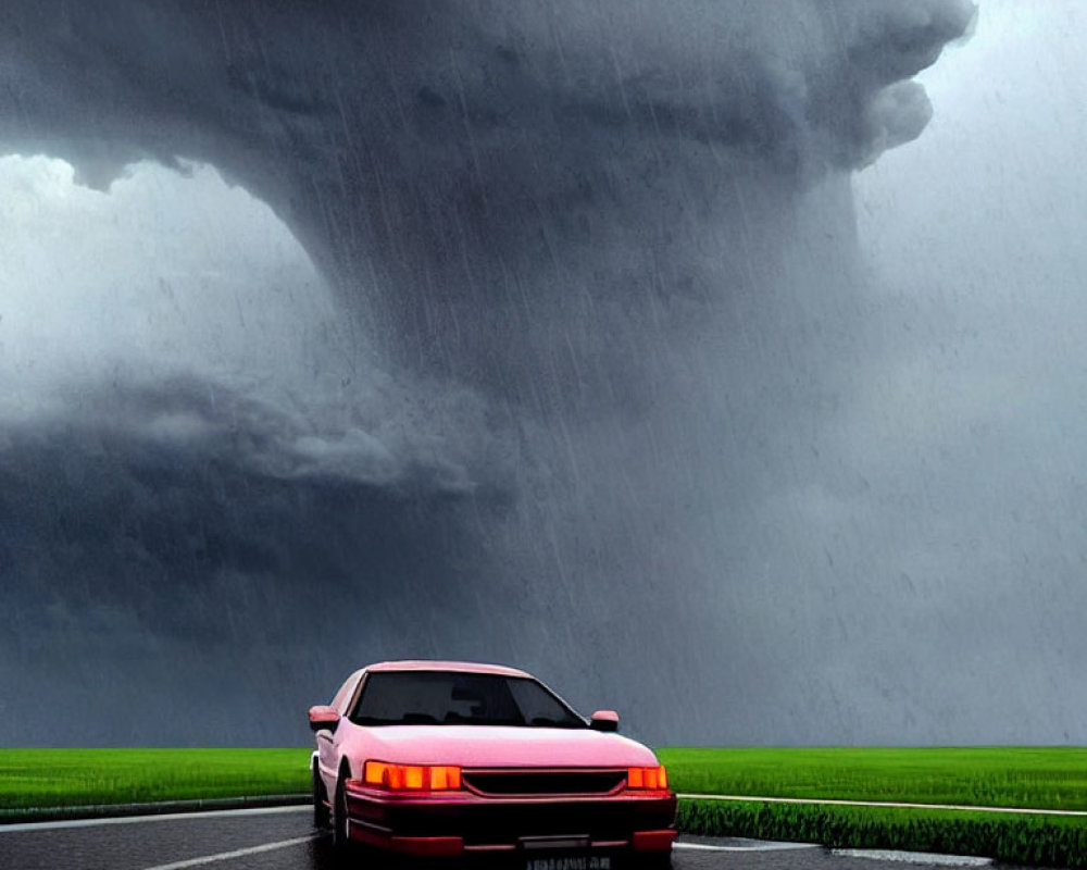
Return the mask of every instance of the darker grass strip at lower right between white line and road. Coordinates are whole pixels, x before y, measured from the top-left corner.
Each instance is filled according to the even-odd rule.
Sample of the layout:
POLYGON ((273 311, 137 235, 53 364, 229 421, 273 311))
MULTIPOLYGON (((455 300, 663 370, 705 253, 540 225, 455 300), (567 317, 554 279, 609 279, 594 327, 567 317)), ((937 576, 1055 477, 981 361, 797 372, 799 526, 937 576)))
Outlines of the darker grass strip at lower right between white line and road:
POLYGON ((685 800, 679 828, 708 836, 979 855, 1007 863, 1087 868, 1083 819, 996 813, 685 800))

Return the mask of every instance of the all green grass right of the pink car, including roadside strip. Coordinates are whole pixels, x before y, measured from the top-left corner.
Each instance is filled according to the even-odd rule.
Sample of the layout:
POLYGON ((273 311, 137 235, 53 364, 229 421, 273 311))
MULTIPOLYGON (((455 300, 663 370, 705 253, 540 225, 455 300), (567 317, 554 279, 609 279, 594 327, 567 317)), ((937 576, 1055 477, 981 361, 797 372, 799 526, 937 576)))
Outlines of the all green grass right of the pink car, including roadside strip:
MULTIPOLYGON (((661 749, 677 792, 1087 809, 1087 750, 661 749)), ((963 810, 685 800, 688 833, 982 855, 1087 868, 1087 819, 963 810)))

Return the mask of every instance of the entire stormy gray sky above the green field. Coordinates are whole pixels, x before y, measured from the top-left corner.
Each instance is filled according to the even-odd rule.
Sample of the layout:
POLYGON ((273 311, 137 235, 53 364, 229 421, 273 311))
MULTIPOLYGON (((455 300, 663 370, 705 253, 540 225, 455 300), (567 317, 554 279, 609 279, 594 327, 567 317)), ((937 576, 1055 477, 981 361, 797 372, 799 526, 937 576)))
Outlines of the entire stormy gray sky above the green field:
POLYGON ((357 660, 463 655, 658 742, 1087 739, 1083 13, 982 3, 921 76, 928 128, 849 182, 920 129, 919 91, 872 95, 961 9, 794 5, 541 8, 468 21, 463 54, 409 23, 402 120, 365 88, 307 107, 305 40, 226 88, 216 58, 103 65, 103 112, 191 85, 196 133, 155 108, 88 139, 63 76, 20 103, 22 151, 82 169, 0 158, 10 659, 64 636, 30 676, 123 697, 137 650, 128 679, 186 660, 199 696, 245 645, 222 679, 272 680, 271 718, 357 660), (74 181, 163 141, 185 174, 74 181), (323 659, 291 621, 314 601, 323 659))

